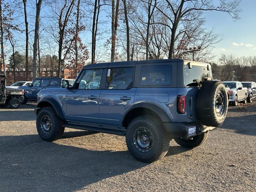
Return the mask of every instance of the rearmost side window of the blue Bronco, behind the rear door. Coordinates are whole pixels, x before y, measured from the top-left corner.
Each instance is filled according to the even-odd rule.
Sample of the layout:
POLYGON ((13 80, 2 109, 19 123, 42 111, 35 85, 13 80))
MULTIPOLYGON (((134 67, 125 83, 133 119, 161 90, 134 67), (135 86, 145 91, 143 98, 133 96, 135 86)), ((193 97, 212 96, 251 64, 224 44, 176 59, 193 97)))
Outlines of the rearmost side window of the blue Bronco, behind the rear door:
POLYGON ((140 85, 171 85, 172 66, 171 65, 152 65, 142 66, 140 69, 140 85))

